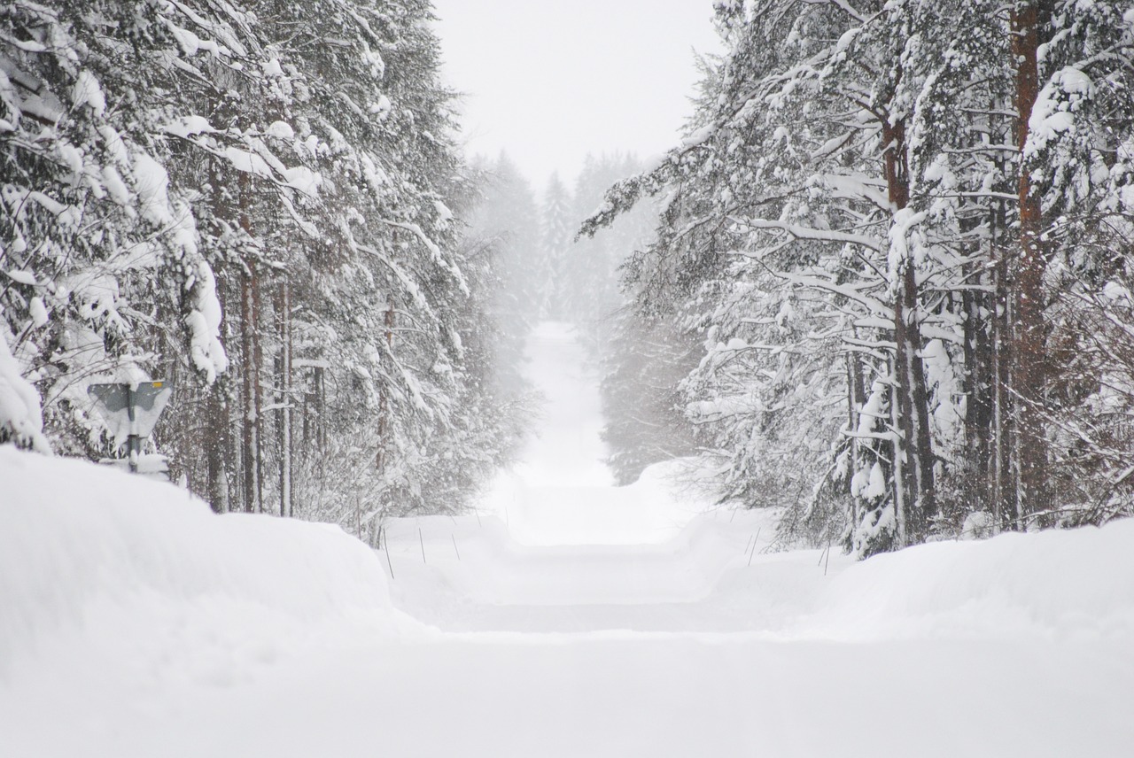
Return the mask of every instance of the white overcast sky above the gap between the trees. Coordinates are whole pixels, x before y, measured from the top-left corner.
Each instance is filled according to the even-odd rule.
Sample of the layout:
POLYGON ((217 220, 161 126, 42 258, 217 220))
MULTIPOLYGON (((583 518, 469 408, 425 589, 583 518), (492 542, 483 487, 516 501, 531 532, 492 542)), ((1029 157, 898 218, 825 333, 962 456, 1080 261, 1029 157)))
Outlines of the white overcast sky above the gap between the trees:
POLYGON ((433 0, 442 76, 465 93, 469 156, 506 150, 542 189, 590 152, 646 159, 678 140, 719 52, 712 0, 433 0))

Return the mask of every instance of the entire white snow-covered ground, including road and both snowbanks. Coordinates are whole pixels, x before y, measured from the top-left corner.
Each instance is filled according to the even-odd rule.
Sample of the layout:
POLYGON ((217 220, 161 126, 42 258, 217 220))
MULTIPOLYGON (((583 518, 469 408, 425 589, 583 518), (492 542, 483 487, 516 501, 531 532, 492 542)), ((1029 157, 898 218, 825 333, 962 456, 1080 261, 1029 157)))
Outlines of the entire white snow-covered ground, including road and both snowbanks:
POLYGON ((0 756, 1132 755, 1134 522, 765 553, 610 486, 570 332, 531 352, 524 462, 380 553, 0 449, 0 756))

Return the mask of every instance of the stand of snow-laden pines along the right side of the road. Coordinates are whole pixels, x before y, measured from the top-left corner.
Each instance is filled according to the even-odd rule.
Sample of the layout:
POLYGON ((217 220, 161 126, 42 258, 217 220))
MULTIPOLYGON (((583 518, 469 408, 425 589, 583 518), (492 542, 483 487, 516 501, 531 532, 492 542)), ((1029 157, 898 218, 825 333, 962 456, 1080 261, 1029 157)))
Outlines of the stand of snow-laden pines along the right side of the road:
MULTIPOLYGON (((1013 528, 1080 512, 1046 483, 1056 429, 1085 428, 1082 395, 1052 394, 1070 323, 1052 306, 1099 304, 1084 293, 1118 275, 1084 288, 1094 233, 1128 246, 1134 18, 1106 2, 717 8, 730 50, 687 138, 584 229, 665 194, 628 281, 704 330, 685 386, 731 460, 726 494, 759 504, 798 472, 779 483, 799 493, 787 536, 830 535, 843 512, 858 554, 973 511, 1013 528)), ((1100 371, 1076 372, 1077 392, 1095 397, 1100 371)))

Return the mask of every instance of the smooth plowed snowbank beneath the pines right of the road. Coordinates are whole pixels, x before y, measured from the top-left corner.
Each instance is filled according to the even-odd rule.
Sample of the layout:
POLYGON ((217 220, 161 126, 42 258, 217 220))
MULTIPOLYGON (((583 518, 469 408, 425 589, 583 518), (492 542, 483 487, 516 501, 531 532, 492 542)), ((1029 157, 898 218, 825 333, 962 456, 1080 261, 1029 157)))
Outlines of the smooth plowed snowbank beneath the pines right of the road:
POLYGON ((801 631, 845 640, 1134 638, 1134 519, 877 555, 836 577, 801 631))

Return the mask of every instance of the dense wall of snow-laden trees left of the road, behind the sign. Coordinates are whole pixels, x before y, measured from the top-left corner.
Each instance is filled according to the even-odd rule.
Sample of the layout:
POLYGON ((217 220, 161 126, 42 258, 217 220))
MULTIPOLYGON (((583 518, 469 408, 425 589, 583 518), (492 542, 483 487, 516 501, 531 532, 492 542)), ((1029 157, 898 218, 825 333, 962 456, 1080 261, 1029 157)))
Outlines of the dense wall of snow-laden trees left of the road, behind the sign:
POLYGON ((0 10, 2 332, 57 450, 112 450, 91 382, 161 375, 155 441, 219 510, 346 522, 364 501, 374 527, 468 495, 469 440, 508 432, 469 416, 488 390, 462 330, 490 303, 457 244, 431 12, 0 10))

